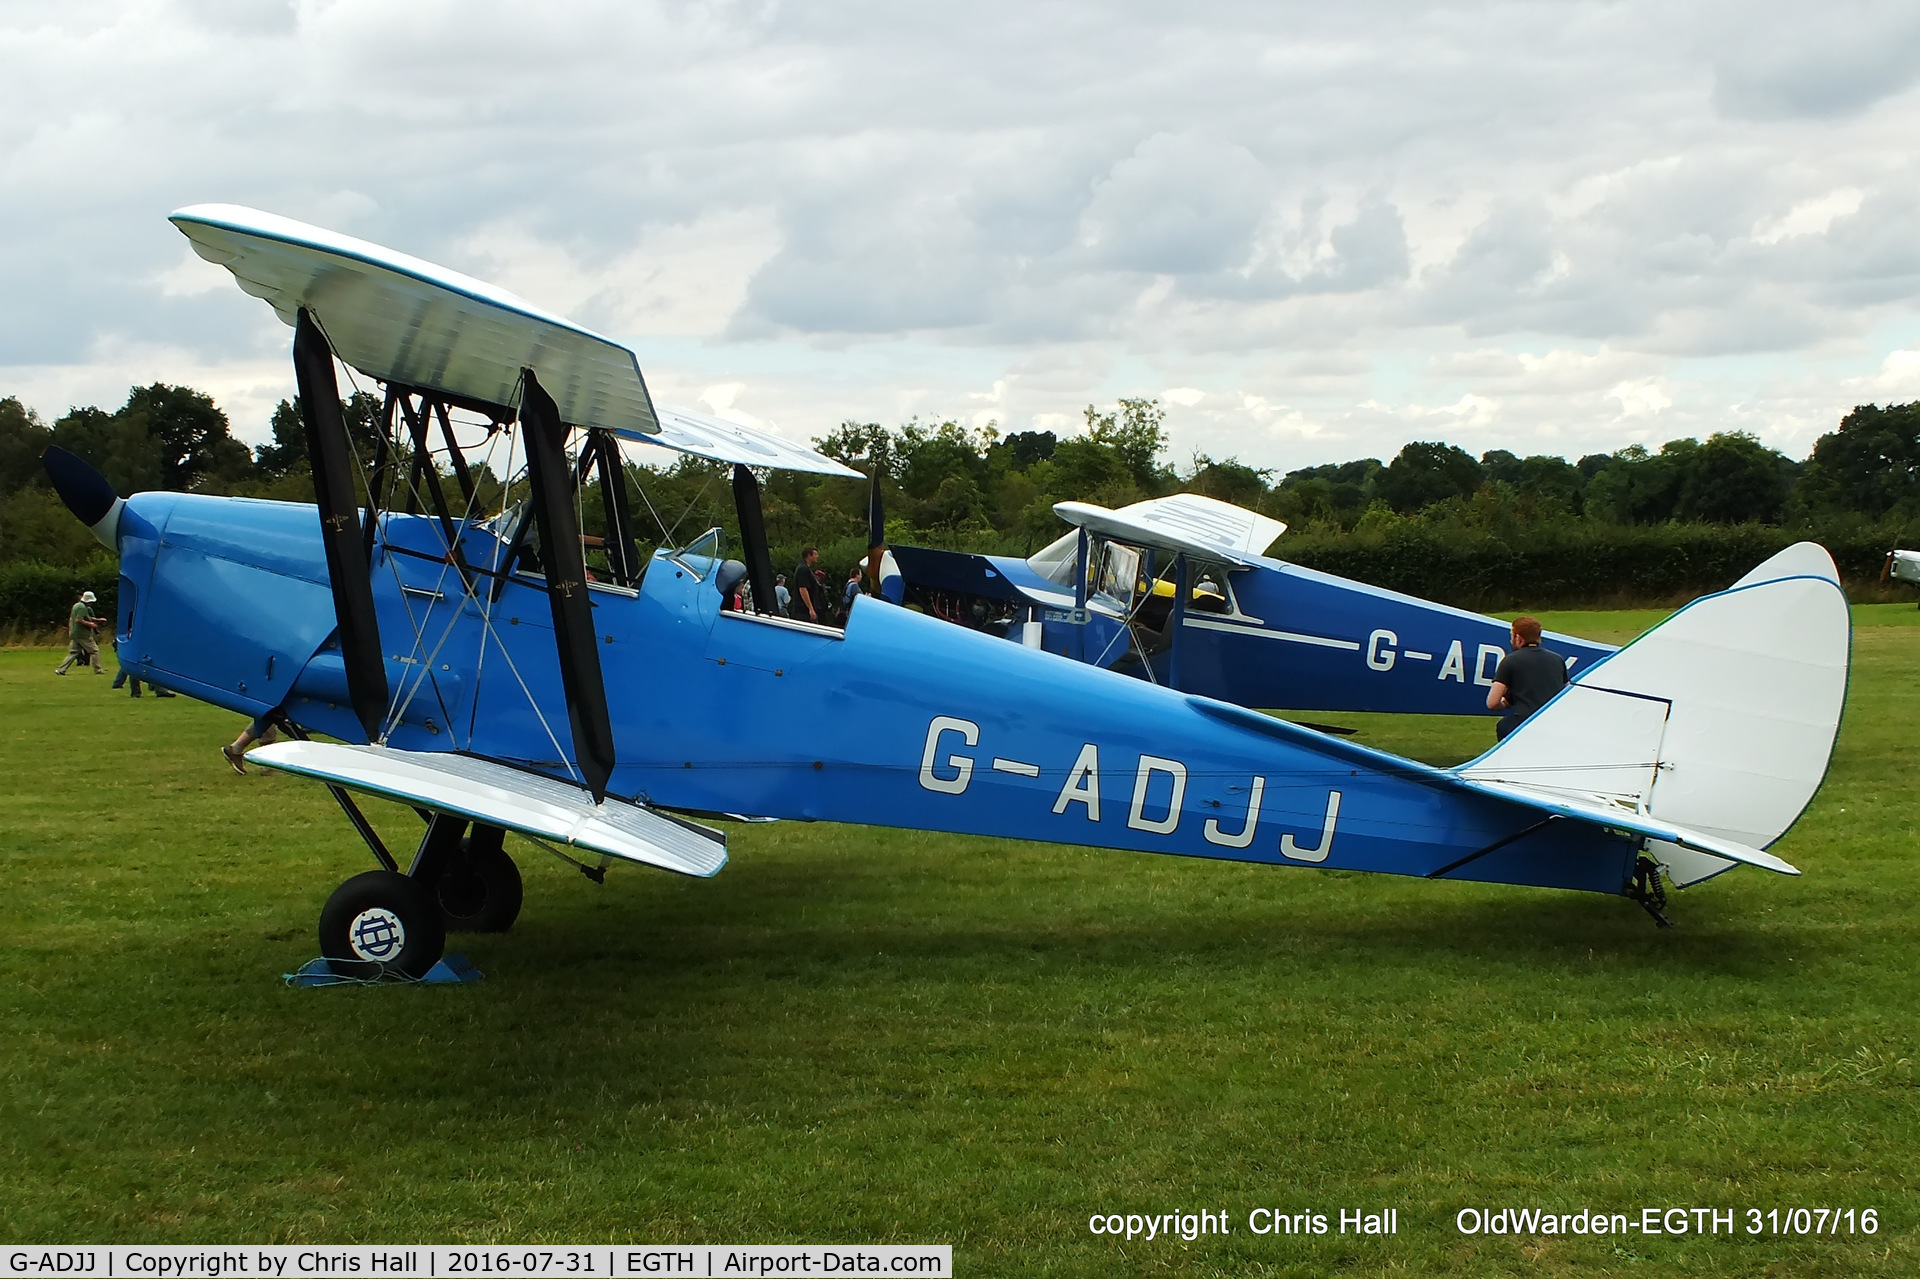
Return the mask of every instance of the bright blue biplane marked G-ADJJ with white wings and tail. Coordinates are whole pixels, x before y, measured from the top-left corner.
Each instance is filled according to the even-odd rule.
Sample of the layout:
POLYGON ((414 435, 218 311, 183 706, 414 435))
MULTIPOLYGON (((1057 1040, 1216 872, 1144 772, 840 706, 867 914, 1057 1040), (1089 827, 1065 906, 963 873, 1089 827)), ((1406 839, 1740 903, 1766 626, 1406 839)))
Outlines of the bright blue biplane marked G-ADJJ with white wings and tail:
MULTIPOLYGON (((839 463, 657 407, 630 350, 480 280, 253 209, 173 221, 294 328, 317 503, 123 499, 73 455, 46 469, 119 553, 127 668, 282 726, 248 759, 330 787, 380 862, 321 914, 336 964, 419 976, 449 924, 507 928, 507 832, 595 878, 611 860, 712 876, 724 816, 1588 889, 1655 918, 1663 883, 1797 874, 1764 849, 1826 772, 1851 640, 1816 545, 1432 768, 1212 697, 1198 672, 1127 678, 877 597, 845 628, 780 616, 753 469, 852 474, 839 463), (336 361, 384 388, 372 457, 336 361), (643 563, 628 446, 732 465, 739 553, 710 530, 643 563), (488 509, 480 461, 509 478, 488 509), (593 476, 597 540, 578 511, 593 476), (728 609, 741 582, 749 607, 728 609), (405 870, 357 793, 422 816, 405 870)), ((1427 661, 1357 630, 1390 622, 1265 624, 1350 638, 1338 651, 1382 674, 1427 661)), ((1463 674, 1484 672, 1459 640, 1463 674)))

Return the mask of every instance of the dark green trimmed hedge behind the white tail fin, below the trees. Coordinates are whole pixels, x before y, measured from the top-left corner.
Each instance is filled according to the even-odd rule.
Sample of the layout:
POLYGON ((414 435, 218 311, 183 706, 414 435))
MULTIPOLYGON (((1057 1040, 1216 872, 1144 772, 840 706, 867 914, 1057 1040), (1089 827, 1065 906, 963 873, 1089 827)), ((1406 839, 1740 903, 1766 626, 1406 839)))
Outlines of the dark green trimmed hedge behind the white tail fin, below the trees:
MULTIPOLYGON (((1283 538, 1273 553, 1342 578, 1461 609, 1655 603, 1724 590, 1805 532, 1766 524, 1574 526, 1513 540, 1409 522, 1377 536, 1283 538)), ((1868 586, 1893 534, 1872 524, 1814 540, 1841 580, 1868 586)))

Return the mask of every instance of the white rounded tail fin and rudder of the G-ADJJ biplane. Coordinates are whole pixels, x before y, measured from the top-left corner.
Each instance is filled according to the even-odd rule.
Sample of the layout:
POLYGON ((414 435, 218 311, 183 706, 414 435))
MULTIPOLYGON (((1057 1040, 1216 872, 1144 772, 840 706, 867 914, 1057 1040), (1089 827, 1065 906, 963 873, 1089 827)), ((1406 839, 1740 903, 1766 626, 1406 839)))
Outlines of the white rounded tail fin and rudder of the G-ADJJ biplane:
MULTIPOLYGON (((1580 672, 1457 774, 1764 849, 1826 778, 1851 641, 1834 561, 1803 542, 1580 672)), ((1728 868, 1688 860, 1705 857, 1676 881, 1728 868)))

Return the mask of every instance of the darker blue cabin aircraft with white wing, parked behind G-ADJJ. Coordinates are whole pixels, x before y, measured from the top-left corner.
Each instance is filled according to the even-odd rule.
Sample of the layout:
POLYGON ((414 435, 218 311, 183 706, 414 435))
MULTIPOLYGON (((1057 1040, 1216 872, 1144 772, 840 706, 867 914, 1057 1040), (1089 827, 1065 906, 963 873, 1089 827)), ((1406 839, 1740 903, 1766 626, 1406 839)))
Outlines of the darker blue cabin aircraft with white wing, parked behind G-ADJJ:
MULTIPOLYGON (((975 630, 1242 707, 1490 714, 1486 689, 1507 655, 1500 618, 1271 559, 1283 522, 1198 494, 1054 511, 1085 536, 1025 561, 895 547, 908 597, 939 601, 935 611, 975 630), (1187 607, 1175 597, 1183 574, 1187 607), (1200 593, 1202 580, 1217 593, 1200 593), (947 599, 958 607, 941 609, 947 599), (998 607, 973 616, 972 601, 998 607)), ((1615 651, 1555 632, 1544 643, 1569 674, 1615 651)))

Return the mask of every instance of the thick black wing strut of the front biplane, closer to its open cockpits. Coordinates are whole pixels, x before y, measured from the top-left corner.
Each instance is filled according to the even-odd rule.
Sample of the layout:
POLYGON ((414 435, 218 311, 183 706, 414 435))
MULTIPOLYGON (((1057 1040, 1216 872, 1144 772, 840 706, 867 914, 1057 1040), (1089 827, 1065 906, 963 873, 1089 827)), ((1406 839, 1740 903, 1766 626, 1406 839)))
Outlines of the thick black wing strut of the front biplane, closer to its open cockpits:
POLYGON ((566 465, 566 424, 553 396, 532 369, 522 371, 520 424, 534 524, 540 528, 540 561, 547 570, 547 605, 553 609, 553 645, 561 659, 566 720, 574 730, 574 762, 593 791, 607 799, 612 776, 612 716, 601 678, 593 601, 588 597, 588 565, 580 553, 580 520, 574 519, 574 472, 566 465))

